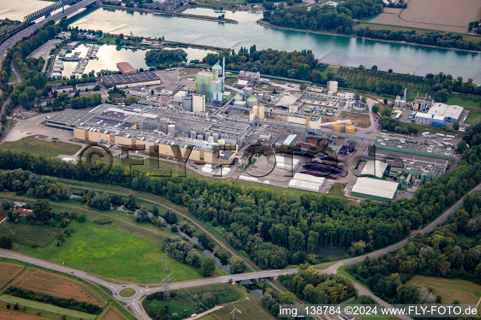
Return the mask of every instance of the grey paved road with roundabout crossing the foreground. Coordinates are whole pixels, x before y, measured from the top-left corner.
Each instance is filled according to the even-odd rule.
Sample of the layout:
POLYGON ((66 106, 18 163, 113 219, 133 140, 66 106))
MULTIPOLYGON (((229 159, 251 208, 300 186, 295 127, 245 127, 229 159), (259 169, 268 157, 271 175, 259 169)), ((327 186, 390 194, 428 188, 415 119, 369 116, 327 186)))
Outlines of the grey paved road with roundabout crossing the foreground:
MULTIPOLYGON (((109 188, 107 186, 102 186, 103 188, 109 188)), ((115 188, 112 188, 115 189, 115 188)), ((473 191, 481 190, 481 184, 476 186, 473 191)), ((144 195, 140 195, 141 197, 145 197, 144 195)), ((464 199, 464 197, 463 197, 464 199)), ((427 232, 431 232, 434 230, 434 228, 441 223, 443 223, 444 220, 448 217, 449 214, 456 212, 461 206, 463 205, 463 199, 457 201, 453 206, 451 206, 448 210, 446 210, 445 213, 440 215, 436 220, 431 222, 429 225, 427 225, 424 229, 420 230, 421 234, 425 234, 427 232)), ((159 203, 160 201, 158 201, 159 203)), ((162 203, 159 203, 162 205, 162 203)), ((184 213, 185 214, 185 213, 184 213)), ((414 234, 411 236, 414 237, 414 234)), ((411 238, 409 237, 409 238, 411 238)), ((337 263, 334 263, 330 265, 328 268, 325 270, 319 271, 321 273, 337 273, 339 267, 342 265, 346 264, 351 264, 359 261, 363 261, 366 257, 371 257, 375 255, 381 255, 384 253, 388 253, 390 251, 399 249, 407 243, 409 238, 406 238, 398 243, 395 243, 389 247, 379 249, 377 251, 338 261, 337 263)), ((84 271, 72 269, 69 267, 66 267, 64 265, 58 265, 55 263, 47 262, 47 261, 42 261, 36 258, 28 257, 20 253, 12 252, 6 249, 0 249, 0 257, 4 258, 9 258, 9 259, 14 259, 14 260, 19 260, 19 261, 25 261, 28 263, 32 263, 41 267, 45 267, 51 270, 63 272, 63 273, 71 273, 76 275, 79 278, 82 278, 84 280, 87 280, 93 284, 100 284, 106 288, 109 288, 112 290, 114 294, 114 298, 119 300, 119 301, 124 301, 127 303, 128 306, 132 309, 132 312, 134 316, 139 319, 139 320, 151 320, 151 318, 147 315, 145 310, 142 308, 142 305, 140 303, 141 298, 144 297, 145 295, 155 293, 155 292, 160 292, 163 290, 161 284, 152 284, 152 285, 145 285, 145 287, 140 287, 137 284, 125 284, 126 287, 128 288, 133 288, 136 290, 136 294, 134 296, 124 298, 118 295, 120 290, 122 290, 124 287, 122 284, 114 284, 113 282, 109 282, 107 280, 101 279, 100 277, 97 277, 93 274, 86 273, 84 271), (117 295, 115 295, 117 293, 117 295)), ((220 277, 215 277, 215 278, 205 278, 205 279, 200 279, 200 280, 193 280, 193 281, 185 281, 185 282, 176 282, 170 284, 170 289, 178 289, 182 290, 184 288, 190 288, 194 286, 201 286, 201 285, 206 285, 206 284, 215 284, 215 283, 226 283, 230 279, 232 281, 237 282, 237 281, 242 281, 242 280, 247 280, 247 279, 261 279, 261 278, 277 278, 279 275, 284 275, 284 274, 292 274, 292 273, 297 273, 298 268, 292 268, 292 269, 280 269, 280 270, 265 270, 265 271, 256 271, 256 272, 250 272, 250 273, 238 273, 238 274, 230 274, 230 275, 225 275, 225 276, 220 276, 220 277)), ((375 296, 372 292, 367 290, 366 288, 360 286, 359 284, 354 283, 355 289, 359 292, 359 295, 368 295, 372 296, 377 303, 379 303, 381 306, 388 307, 389 304, 385 302, 384 300, 380 299, 378 296, 375 296)), ((411 318, 404 316, 401 317, 402 320, 412 320, 411 318)))

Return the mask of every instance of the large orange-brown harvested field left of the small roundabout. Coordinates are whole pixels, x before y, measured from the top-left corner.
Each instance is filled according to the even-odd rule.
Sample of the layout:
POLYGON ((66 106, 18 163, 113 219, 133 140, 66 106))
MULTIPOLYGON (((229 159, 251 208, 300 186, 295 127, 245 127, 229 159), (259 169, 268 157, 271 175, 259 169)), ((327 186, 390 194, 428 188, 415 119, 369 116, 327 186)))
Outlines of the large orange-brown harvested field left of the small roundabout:
POLYGON ((74 300, 94 304, 101 308, 107 305, 107 301, 88 285, 36 268, 27 269, 13 281, 12 286, 57 298, 74 298, 74 300))

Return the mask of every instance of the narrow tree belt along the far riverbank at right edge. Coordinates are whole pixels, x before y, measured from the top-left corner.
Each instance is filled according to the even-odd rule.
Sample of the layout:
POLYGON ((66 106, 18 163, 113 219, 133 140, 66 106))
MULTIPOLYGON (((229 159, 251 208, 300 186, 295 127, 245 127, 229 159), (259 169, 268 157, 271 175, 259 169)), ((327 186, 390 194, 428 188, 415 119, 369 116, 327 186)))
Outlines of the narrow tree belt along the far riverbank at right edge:
POLYGON ((416 34, 416 30, 411 31, 391 31, 391 30, 377 30, 366 27, 357 30, 357 36, 385 39, 395 41, 405 41, 409 43, 417 43, 420 45, 439 46, 446 48, 457 48, 464 50, 481 50, 481 41, 476 43, 468 40, 463 40, 463 36, 454 33, 446 32, 440 34, 437 31, 431 31, 423 34, 416 34))

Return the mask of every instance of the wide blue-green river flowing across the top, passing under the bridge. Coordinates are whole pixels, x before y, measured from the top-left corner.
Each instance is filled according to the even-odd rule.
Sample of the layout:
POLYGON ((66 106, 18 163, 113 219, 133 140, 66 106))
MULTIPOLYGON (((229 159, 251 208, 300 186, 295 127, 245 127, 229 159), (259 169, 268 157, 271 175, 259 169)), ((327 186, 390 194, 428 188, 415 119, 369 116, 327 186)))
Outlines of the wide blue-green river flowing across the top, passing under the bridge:
MULTIPOLYGON (((9 12, 18 16, 30 12, 18 12, 19 8, 35 7, 39 0, 0 0, 0 12, 9 17, 9 12)), ((191 8, 186 13, 217 16, 211 9, 191 8)), ((0 18, 2 18, 0 14, 0 18)), ((82 29, 124 33, 137 36, 165 36, 167 40, 203 44, 218 47, 250 47, 257 49, 281 49, 287 51, 310 49, 321 62, 348 66, 377 65, 381 70, 390 68, 395 72, 426 75, 440 71, 472 78, 481 84, 481 54, 447 49, 418 47, 374 40, 362 40, 343 36, 320 35, 307 32, 278 30, 255 23, 261 13, 230 12, 226 18, 235 19, 239 24, 187 19, 142 12, 127 12, 89 7, 69 18, 69 23, 82 29)), ((19 19, 20 20, 20 19, 19 19)))

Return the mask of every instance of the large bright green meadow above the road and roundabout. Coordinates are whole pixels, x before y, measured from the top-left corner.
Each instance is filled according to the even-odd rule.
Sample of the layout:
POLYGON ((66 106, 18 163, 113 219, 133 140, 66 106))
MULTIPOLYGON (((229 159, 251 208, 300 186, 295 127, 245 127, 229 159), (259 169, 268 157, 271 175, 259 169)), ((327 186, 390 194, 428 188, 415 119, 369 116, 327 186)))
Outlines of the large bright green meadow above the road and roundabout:
MULTIPOLYGON (((158 249, 158 245, 166 236, 174 235, 170 229, 160 230, 148 223, 139 224, 129 213, 82 208, 79 202, 78 200, 50 202, 54 212, 60 212, 62 209, 69 212, 85 212, 88 217, 84 223, 74 220, 68 225, 69 229, 74 229, 74 233, 70 237, 64 237, 65 241, 61 242, 59 247, 55 239, 51 241, 50 235, 43 240, 50 241, 50 244, 43 248, 32 248, 30 241, 24 242, 22 239, 26 232, 22 224, 5 221, 0 225, 0 232, 14 234, 20 244, 15 245, 13 249, 25 255, 59 264, 64 262, 72 268, 119 281, 135 283, 162 281, 165 275, 164 254, 158 249), (97 224, 96 220, 112 223, 97 224)), ((51 229, 55 235, 58 231, 63 231, 62 228, 51 229)), ((177 281, 202 277, 195 269, 177 261, 169 260, 168 266, 177 281)), ((217 268, 215 274, 223 273, 217 268)))

